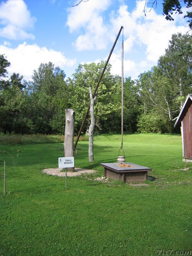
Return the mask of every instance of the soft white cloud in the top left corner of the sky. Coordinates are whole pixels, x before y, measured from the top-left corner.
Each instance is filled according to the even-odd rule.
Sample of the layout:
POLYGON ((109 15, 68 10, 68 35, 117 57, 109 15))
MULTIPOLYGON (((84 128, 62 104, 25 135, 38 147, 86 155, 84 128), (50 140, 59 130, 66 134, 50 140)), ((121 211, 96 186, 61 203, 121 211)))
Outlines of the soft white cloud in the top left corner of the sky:
POLYGON ((9 39, 34 39, 35 36, 28 33, 33 29, 35 17, 31 17, 23 0, 7 0, 0 4, 0 36, 9 39))

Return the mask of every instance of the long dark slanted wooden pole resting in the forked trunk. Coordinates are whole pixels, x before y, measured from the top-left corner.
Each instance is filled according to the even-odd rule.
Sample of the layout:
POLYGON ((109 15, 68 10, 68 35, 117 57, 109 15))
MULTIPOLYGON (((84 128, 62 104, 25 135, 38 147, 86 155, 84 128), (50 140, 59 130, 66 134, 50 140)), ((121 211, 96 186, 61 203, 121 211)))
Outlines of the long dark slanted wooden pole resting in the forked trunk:
MULTIPOLYGON (((120 30, 119 30, 119 33, 118 33, 118 35, 117 35, 117 37, 116 37, 116 39, 115 39, 115 42, 114 42, 114 44, 113 44, 113 47, 112 47, 112 49, 111 49, 111 52, 109 53, 108 59, 107 59, 107 61, 106 61, 106 63, 105 63, 105 67, 103 68, 103 71, 102 71, 101 75, 99 76, 99 81, 97 82, 95 91, 94 91, 94 93, 93 93, 93 98, 95 97, 96 91, 97 91, 97 89, 98 89, 98 87, 99 87, 99 84, 100 84, 100 81, 101 81, 101 79, 102 79, 102 76, 103 76, 103 74, 104 74, 104 72, 105 72, 105 69, 106 69, 106 67, 107 67, 107 65, 108 65, 109 59, 111 58, 111 54, 112 54, 112 52, 113 52, 113 49, 115 48, 116 42, 117 42, 117 40, 118 40, 118 38, 119 38, 119 35, 120 35, 121 31, 122 31, 122 28, 123 28, 123 26, 121 26, 121 28, 120 28, 120 30)), ((80 130, 79 130, 79 134, 78 134, 78 136, 77 136, 77 138, 76 138, 76 143, 75 143, 75 145, 74 145, 74 148, 76 148, 76 145, 77 145, 77 143, 78 143, 78 141, 79 141, 79 137, 80 137, 81 131, 82 131, 82 129, 83 129, 84 123, 85 123, 85 121, 86 121, 86 119, 87 119, 89 110, 90 110, 90 104, 88 105, 87 111, 86 111, 86 113, 85 113, 83 122, 82 122, 82 124, 81 124, 81 128, 80 128, 80 130)))

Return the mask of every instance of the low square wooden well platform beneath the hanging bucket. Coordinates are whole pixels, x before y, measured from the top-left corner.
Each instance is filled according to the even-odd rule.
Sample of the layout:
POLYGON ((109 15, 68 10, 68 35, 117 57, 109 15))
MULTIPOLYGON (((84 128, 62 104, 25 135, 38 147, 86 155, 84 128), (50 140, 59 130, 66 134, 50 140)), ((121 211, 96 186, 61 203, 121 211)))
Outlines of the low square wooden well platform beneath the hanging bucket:
POLYGON ((101 163, 104 167, 104 176, 126 183, 142 182, 147 179, 147 172, 151 168, 134 163, 101 163))

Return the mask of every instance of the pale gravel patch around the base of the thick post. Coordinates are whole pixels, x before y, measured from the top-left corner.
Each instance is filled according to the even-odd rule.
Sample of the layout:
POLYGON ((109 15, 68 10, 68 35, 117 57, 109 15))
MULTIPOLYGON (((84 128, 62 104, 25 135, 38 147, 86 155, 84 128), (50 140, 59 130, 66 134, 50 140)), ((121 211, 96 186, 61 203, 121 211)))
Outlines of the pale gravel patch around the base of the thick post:
MULTIPOLYGON (((62 168, 56 168, 56 169, 49 168, 49 169, 44 169, 43 170, 43 172, 47 173, 48 175, 64 177, 65 172, 61 172, 61 171, 62 171, 62 168)), ((84 174, 84 173, 90 174, 90 173, 94 173, 94 172, 96 172, 96 171, 75 167, 75 172, 67 172, 67 176, 68 177, 75 177, 75 176, 79 176, 79 175, 84 174)))

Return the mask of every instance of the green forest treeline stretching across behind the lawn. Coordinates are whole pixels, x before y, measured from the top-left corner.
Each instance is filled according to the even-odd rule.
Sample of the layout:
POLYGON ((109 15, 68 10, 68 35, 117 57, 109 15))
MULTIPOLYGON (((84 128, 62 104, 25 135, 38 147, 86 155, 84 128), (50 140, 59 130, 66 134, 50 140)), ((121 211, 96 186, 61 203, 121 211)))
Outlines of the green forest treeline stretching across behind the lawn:
MULTIPOLYGON (((124 81, 124 131, 176 133, 173 127, 186 96, 192 93, 192 38, 174 34, 157 66, 124 81)), ((65 109, 75 110, 79 131, 104 62, 80 64, 71 78, 51 62, 34 70, 31 81, 13 73, 9 60, 0 55, 0 131, 15 134, 64 134, 65 109)), ((96 132, 121 131, 121 77, 108 64, 95 104, 96 132)), ((87 130, 90 119, 84 126, 87 130)))

